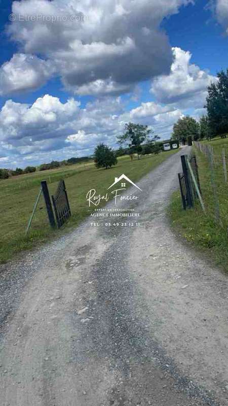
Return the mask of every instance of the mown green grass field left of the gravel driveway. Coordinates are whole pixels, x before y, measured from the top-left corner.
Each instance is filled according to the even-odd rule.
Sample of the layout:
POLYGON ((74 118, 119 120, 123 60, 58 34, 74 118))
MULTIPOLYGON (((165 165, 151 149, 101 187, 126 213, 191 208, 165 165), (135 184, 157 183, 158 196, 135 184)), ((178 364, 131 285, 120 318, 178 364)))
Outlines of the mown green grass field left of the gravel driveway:
POLYGON ((0 181, 0 262, 11 259, 14 254, 31 249, 77 226, 88 215, 87 192, 94 188, 106 193, 116 176, 124 173, 132 181, 139 180, 168 156, 177 152, 162 152, 159 155, 143 156, 132 162, 129 156, 120 157, 118 164, 108 170, 97 169, 93 162, 77 164, 58 170, 35 172, 0 181), (25 229, 31 216, 41 181, 47 180, 50 194, 54 194, 60 179, 65 180, 72 216, 61 230, 49 226, 43 196, 37 207, 31 229, 25 229))

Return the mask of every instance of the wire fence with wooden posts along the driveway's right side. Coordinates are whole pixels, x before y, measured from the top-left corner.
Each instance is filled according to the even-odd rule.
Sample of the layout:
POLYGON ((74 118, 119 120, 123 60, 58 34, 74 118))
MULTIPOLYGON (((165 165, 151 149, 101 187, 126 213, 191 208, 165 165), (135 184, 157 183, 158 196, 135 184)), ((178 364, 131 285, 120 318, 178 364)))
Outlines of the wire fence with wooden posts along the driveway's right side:
POLYGON ((228 227, 227 146, 213 148, 210 144, 194 142, 199 151, 199 176, 205 211, 216 223, 228 227))

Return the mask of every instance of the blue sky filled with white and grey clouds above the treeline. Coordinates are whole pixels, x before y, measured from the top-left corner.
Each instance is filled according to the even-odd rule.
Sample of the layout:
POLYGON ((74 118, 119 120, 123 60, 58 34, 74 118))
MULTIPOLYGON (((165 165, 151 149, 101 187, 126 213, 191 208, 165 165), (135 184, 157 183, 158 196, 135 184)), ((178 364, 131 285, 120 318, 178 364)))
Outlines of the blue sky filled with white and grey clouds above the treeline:
POLYGON ((227 0, 0 0, 0 167, 165 140, 228 67, 227 0))

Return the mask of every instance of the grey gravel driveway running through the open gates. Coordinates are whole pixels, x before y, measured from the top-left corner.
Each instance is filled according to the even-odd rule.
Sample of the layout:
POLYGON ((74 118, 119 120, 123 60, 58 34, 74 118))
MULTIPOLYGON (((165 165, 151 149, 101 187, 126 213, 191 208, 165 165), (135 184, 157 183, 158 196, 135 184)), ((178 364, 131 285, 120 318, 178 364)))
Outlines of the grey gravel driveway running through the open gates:
POLYGON ((134 226, 90 218, 2 266, 1 406, 228 405, 227 277, 165 215, 180 154, 138 183, 134 226))

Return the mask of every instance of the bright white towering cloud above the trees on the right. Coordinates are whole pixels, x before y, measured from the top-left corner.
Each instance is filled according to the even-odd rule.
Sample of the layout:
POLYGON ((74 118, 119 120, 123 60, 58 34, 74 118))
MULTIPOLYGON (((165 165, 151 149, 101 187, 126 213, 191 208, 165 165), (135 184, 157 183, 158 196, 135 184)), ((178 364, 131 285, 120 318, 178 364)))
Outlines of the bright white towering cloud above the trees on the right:
POLYGON ((192 54, 180 48, 173 48, 174 61, 169 75, 154 79, 151 86, 157 100, 176 107, 203 108, 207 87, 216 78, 202 71, 199 66, 191 64, 192 54))

